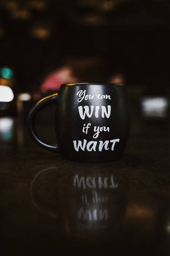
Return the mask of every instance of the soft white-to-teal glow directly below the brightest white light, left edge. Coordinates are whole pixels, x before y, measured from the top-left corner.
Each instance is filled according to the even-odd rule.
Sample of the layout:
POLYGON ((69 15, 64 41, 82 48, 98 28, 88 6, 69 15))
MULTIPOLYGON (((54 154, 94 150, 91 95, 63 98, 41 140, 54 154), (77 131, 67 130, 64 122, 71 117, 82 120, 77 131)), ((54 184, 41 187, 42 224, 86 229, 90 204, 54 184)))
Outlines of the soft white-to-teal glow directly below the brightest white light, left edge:
POLYGON ((10 117, 0 118, 0 138, 3 141, 8 141, 13 136, 14 120, 10 117))

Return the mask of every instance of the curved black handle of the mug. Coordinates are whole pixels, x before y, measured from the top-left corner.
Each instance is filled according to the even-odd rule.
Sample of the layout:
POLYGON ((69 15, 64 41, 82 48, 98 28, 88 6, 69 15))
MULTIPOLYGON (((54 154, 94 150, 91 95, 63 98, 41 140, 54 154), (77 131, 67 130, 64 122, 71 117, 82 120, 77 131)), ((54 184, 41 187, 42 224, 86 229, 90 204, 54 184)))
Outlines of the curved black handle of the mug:
POLYGON ((31 135, 32 139, 44 149, 60 153, 60 149, 57 144, 49 144, 39 138, 36 130, 35 130, 35 118, 37 114, 43 109, 45 106, 51 105, 52 103, 56 104, 58 101, 58 93, 52 94, 41 99, 36 105, 30 110, 27 120, 27 126, 29 134, 31 135))

